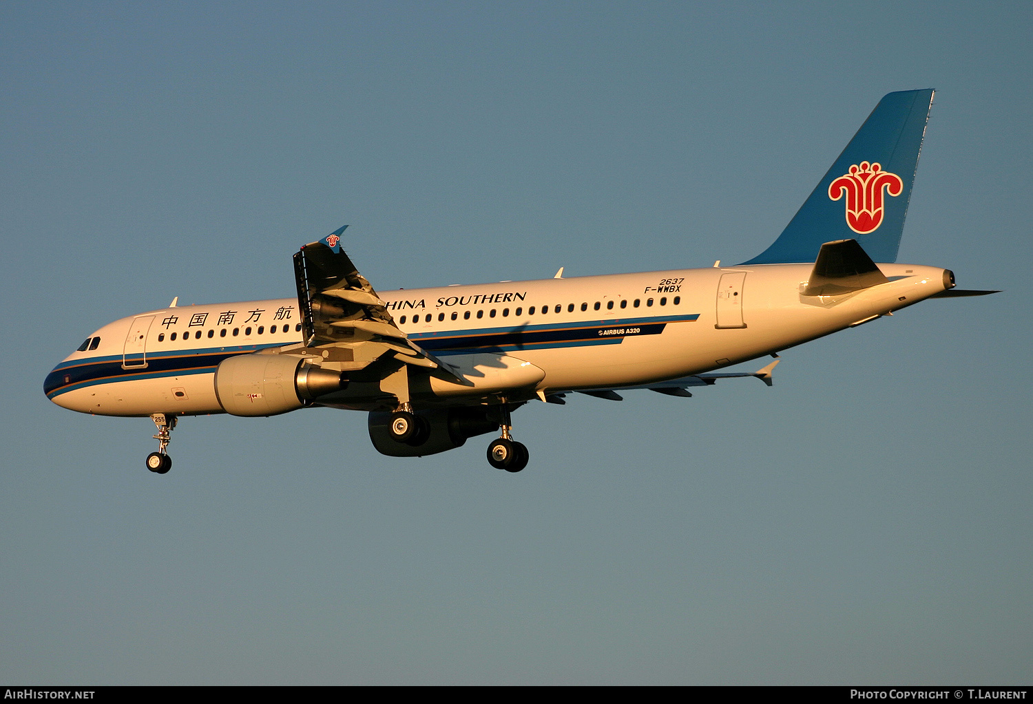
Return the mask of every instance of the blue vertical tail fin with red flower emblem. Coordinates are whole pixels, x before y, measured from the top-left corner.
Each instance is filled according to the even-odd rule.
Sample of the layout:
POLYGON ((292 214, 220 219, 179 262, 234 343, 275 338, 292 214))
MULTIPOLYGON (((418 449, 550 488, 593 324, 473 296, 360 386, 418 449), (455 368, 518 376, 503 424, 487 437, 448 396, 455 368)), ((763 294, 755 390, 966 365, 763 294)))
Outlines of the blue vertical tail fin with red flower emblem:
POLYGON ((932 89, 883 97, 778 239, 743 263, 811 262, 835 239, 896 261, 932 104, 932 89))

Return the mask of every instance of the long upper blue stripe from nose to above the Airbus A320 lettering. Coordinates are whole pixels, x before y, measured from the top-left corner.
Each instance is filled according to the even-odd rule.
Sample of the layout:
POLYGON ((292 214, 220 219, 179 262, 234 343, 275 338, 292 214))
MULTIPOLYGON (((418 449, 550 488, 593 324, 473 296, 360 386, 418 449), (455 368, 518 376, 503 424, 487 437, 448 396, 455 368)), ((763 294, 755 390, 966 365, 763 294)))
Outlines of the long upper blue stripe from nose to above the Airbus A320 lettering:
MULTIPOLYGON (((414 332, 409 339, 435 354, 520 352, 596 345, 620 345, 625 338, 660 334, 668 323, 694 322, 699 314, 653 318, 591 320, 570 323, 483 327, 472 330, 414 332)), ((211 374, 223 359, 262 349, 295 344, 241 345, 189 350, 147 352, 147 366, 123 369, 123 356, 105 355, 65 361, 54 367, 43 382, 43 392, 54 398, 75 389, 119 381, 160 379, 211 374)))

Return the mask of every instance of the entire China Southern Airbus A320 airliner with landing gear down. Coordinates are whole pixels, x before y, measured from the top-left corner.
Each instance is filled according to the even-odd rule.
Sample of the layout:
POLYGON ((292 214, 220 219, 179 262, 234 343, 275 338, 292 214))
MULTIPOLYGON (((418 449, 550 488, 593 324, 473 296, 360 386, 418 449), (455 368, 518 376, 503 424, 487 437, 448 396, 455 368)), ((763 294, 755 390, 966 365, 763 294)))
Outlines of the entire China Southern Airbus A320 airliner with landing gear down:
MULTIPOLYGON (((573 392, 691 396, 719 379, 769 386, 779 354, 954 288, 896 263, 933 90, 889 93, 765 251, 733 266, 377 292, 344 227, 293 255, 296 296, 168 308, 91 333, 46 376, 58 406, 150 416, 165 474, 183 416, 366 411, 374 447, 422 456, 489 433, 489 463, 520 472, 511 413, 573 392), (876 263, 878 262, 878 263, 876 263), (720 372, 770 356, 753 373, 720 372)), ((346 227, 346 226, 345 226, 346 227)))

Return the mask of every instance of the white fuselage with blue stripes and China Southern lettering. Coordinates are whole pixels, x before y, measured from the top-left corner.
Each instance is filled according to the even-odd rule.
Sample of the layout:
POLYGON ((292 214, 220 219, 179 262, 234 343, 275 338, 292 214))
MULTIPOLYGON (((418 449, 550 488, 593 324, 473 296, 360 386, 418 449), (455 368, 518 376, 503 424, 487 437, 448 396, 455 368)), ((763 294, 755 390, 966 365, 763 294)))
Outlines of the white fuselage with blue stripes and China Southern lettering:
MULTIPOLYGON (((442 360, 462 365, 464 357, 491 353, 540 369, 544 377, 525 389, 533 395, 700 374, 835 332, 948 287, 942 268, 879 267, 888 283, 841 296, 803 295, 813 264, 502 282, 379 295, 401 330, 442 360)), ((221 413, 214 384, 218 363, 302 342, 300 320, 296 298, 142 313, 90 335, 99 343, 58 364, 44 390, 59 406, 84 413, 221 413)), ((460 387, 447 393, 463 392, 460 387)), ((480 392, 469 393, 473 401, 480 392)), ((419 401, 413 397, 414 405, 419 401)))

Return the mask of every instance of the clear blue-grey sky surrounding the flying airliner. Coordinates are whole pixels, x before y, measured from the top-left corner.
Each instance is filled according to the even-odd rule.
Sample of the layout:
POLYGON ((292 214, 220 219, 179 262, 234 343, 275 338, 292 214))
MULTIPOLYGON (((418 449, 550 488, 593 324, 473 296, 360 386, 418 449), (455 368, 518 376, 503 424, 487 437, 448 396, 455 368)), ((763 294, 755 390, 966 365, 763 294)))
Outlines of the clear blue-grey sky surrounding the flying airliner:
POLYGON ((1028 2, 0 4, 0 680, 1029 681, 1031 31, 1028 2), (788 350, 773 388, 529 405, 520 475, 313 410, 187 418, 159 477, 150 420, 42 394, 116 318, 290 295, 344 223, 381 289, 748 259, 928 87, 899 260, 1005 292, 788 350))

